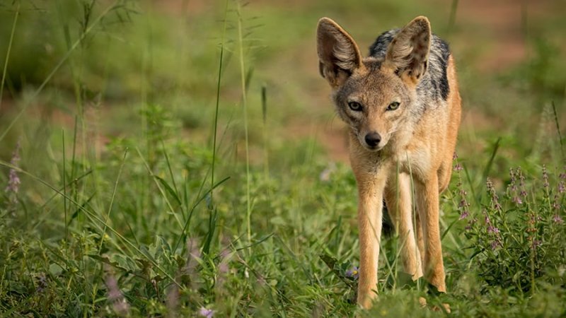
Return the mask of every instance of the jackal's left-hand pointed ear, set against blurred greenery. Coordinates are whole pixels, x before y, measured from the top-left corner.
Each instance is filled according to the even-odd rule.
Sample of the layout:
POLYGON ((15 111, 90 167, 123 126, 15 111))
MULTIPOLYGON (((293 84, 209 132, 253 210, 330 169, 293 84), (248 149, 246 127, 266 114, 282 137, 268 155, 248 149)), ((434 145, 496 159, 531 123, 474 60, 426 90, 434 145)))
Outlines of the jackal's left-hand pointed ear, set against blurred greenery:
POLYGON ((342 86, 356 69, 362 67, 362 55, 356 42, 330 18, 318 20, 316 45, 320 75, 333 88, 342 86))

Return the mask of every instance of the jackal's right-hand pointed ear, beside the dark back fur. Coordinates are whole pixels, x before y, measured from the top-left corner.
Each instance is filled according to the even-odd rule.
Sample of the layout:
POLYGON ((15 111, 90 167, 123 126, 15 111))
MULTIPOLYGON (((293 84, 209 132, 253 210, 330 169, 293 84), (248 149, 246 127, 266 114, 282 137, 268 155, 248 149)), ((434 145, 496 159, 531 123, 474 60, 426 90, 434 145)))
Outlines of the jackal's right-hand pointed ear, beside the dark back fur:
POLYGON ((427 71, 431 37, 429 20, 424 16, 415 18, 395 35, 383 66, 403 81, 416 84, 427 71))

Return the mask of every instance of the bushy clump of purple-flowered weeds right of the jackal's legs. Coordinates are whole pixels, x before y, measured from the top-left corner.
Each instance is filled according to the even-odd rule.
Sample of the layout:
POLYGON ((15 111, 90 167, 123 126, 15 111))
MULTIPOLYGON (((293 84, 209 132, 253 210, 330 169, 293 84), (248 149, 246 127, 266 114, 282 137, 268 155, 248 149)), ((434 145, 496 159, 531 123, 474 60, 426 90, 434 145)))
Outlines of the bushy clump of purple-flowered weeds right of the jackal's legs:
POLYGON ((532 295, 542 283, 565 282, 557 274, 566 268, 564 212, 558 208, 565 199, 562 176, 552 178, 543 166, 540 181, 528 180, 521 168, 512 168, 504 203, 487 179, 487 199, 473 216, 480 221, 466 230, 473 263, 487 285, 532 295))

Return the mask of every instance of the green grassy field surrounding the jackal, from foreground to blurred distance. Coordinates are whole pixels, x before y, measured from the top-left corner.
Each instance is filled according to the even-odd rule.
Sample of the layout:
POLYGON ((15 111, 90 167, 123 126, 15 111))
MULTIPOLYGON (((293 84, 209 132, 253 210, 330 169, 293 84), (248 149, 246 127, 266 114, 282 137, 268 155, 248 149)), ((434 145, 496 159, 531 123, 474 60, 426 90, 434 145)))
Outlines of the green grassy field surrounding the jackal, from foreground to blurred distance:
POLYGON ((559 2, 521 9, 526 57, 496 71, 495 35, 458 1, 0 4, 1 315, 563 317, 559 2), (369 46, 419 14, 464 98, 449 293, 402 273, 391 235, 362 312, 355 180, 328 151, 342 128, 313 32, 331 16, 369 46))

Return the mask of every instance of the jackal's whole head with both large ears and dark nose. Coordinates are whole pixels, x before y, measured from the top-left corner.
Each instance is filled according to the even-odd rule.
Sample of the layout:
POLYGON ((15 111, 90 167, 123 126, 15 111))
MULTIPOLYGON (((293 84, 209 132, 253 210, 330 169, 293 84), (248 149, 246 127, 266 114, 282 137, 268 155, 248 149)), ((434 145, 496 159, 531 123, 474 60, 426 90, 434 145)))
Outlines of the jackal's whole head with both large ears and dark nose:
POLYGON ((333 89, 340 117, 359 143, 379 151, 415 112, 416 86, 427 71, 429 20, 417 17, 389 43, 384 57, 362 59, 352 37, 329 18, 318 21, 320 74, 333 89))

